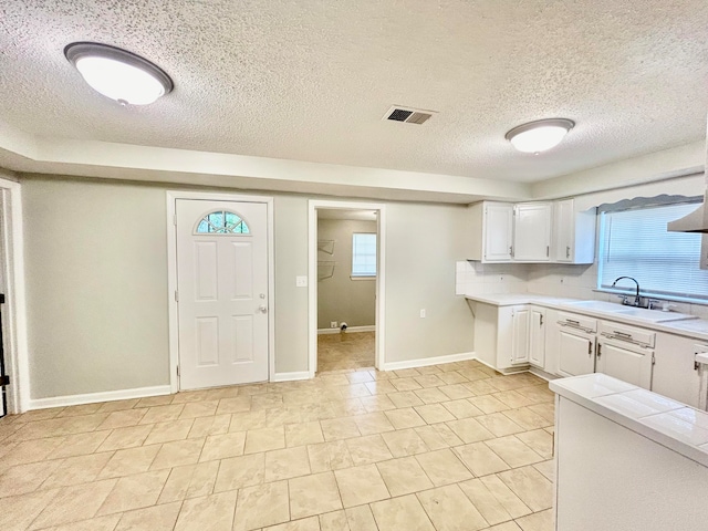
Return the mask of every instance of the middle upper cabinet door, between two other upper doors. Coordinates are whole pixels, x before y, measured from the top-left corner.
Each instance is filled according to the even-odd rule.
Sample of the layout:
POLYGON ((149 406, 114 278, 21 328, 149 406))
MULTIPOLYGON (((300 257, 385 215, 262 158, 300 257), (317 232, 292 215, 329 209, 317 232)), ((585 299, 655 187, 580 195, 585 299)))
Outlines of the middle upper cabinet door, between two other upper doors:
POLYGON ((513 259, 543 262, 551 259, 551 204, 516 206, 513 259))

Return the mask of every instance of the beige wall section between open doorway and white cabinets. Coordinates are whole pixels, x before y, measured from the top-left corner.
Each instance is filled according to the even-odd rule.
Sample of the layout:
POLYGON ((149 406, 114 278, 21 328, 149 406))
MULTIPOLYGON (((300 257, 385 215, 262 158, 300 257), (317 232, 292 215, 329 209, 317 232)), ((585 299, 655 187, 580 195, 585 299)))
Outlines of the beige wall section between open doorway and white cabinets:
POLYGON ((386 362, 471 352, 472 314, 455 295, 455 262, 471 251, 466 208, 396 202, 386 211, 386 362))

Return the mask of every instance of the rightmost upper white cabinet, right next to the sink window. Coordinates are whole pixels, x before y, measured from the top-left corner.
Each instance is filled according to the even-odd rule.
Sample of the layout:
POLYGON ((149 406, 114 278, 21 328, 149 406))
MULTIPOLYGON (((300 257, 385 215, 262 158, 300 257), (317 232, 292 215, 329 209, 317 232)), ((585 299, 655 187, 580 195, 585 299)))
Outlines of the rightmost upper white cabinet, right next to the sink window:
POLYGON ((556 262, 593 263, 595 260, 595 210, 575 212, 575 201, 553 204, 553 249, 556 262))

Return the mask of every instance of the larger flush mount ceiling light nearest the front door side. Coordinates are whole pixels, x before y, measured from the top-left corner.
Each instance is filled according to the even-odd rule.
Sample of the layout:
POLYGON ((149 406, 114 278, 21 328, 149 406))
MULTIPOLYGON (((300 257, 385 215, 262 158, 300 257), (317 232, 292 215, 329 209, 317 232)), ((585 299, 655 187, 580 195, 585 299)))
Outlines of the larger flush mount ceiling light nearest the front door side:
POLYGON ((74 42, 64 55, 93 90, 121 105, 147 105, 174 87, 163 69, 119 48, 74 42))

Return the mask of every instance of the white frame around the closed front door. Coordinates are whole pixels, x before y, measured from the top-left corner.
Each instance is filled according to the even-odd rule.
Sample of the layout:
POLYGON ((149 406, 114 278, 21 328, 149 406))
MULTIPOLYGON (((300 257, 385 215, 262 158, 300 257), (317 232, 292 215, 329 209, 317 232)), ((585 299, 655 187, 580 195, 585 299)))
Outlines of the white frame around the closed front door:
POLYGON ((169 387, 171 393, 179 391, 177 368, 179 366, 179 309, 177 292, 177 199, 261 202, 266 204, 268 218, 268 378, 275 374, 275 268, 273 235, 273 198, 268 196, 248 196, 242 194, 205 192, 189 190, 167 190, 167 301, 169 314, 169 387))

